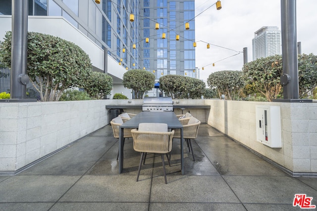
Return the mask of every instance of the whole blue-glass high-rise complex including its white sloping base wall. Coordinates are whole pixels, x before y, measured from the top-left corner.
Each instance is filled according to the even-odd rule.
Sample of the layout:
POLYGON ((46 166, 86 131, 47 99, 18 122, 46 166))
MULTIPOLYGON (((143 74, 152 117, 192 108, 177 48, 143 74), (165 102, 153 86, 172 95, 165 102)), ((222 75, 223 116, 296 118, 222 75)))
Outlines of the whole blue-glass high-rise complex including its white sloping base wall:
MULTIPOLYGON (((0 40, 11 31, 11 1, 0 0, 0 40)), ((194 0, 100 2, 28 0, 28 31, 51 34, 79 45, 90 56, 95 71, 107 69, 114 80, 113 94, 123 92, 131 97, 131 90, 122 85, 123 74, 130 69, 150 71, 157 80, 167 74, 197 76, 194 0), (190 29, 185 30, 187 22, 190 29), (159 29, 155 29, 157 24, 159 29)))

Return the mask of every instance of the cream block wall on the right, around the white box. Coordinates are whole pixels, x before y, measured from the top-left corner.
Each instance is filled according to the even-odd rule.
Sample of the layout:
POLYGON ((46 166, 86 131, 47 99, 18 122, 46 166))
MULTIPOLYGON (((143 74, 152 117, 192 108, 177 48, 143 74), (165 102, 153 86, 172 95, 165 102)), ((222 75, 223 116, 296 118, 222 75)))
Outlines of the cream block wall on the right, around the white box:
POLYGON ((317 103, 206 100, 207 123, 296 173, 317 173, 317 103), (282 147, 257 142, 256 105, 280 106, 282 147))

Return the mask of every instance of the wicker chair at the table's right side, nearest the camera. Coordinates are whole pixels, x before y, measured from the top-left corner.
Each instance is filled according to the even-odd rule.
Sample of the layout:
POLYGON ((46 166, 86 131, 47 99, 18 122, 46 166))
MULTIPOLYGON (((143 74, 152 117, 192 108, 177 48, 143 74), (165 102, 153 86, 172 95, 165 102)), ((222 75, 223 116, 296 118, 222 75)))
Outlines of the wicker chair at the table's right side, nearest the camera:
MULTIPOLYGON (((187 125, 183 125, 183 138, 185 139, 189 152, 192 151, 193 160, 195 161, 191 139, 197 138, 198 128, 201 122, 195 117, 190 117, 187 125)), ((174 138, 180 138, 180 129, 175 129, 174 138)))

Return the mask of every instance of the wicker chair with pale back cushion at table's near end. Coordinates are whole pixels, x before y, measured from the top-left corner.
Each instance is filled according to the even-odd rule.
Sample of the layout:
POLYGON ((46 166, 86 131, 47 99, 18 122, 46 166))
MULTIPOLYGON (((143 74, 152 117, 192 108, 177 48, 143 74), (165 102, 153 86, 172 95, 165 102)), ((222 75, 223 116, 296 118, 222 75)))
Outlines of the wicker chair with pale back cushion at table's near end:
POLYGON ((131 133, 133 136, 134 150, 141 152, 137 181, 139 180, 145 153, 159 153, 162 159, 165 184, 167 184, 164 154, 166 154, 169 163, 167 154, 172 150, 174 130, 168 132, 167 124, 165 123, 140 123, 139 129, 132 129, 131 133))

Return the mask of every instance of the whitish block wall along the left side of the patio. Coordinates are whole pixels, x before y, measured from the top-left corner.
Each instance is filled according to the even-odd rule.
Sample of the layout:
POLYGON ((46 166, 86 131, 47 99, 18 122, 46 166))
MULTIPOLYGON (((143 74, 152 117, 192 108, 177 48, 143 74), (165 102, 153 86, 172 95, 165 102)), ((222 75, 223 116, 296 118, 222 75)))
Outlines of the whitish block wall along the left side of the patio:
POLYGON ((108 123, 105 100, 0 104, 0 171, 20 169, 108 123))

